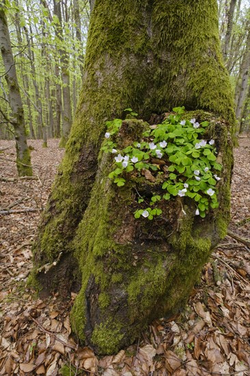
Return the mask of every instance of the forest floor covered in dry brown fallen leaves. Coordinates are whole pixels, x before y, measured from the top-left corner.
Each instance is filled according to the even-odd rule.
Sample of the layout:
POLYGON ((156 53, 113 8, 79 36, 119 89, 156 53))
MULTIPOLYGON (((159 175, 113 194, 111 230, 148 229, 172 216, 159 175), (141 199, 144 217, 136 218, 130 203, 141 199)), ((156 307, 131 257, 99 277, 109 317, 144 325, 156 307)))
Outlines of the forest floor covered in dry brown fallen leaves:
POLYGON ((58 140, 29 141, 35 179, 16 176, 14 142, 0 149, 0 375, 250 375, 250 142, 234 150, 230 236, 214 250, 189 304, 135 345, 97 357, 70 333, 75 294, 36 298, 26 282, 57 165, 58 140), (237 239, 237 236, 239 239, 237 239))

